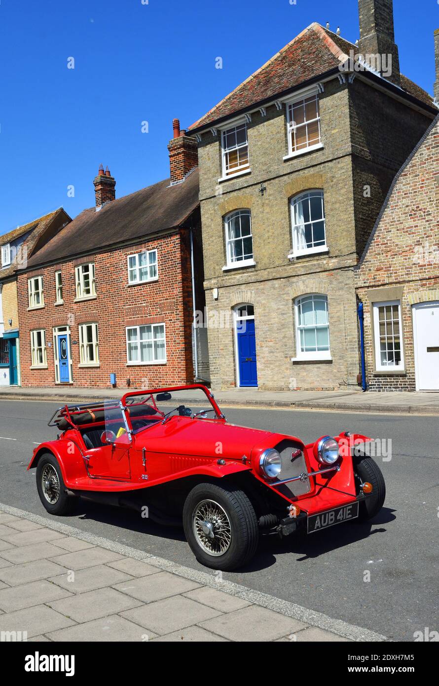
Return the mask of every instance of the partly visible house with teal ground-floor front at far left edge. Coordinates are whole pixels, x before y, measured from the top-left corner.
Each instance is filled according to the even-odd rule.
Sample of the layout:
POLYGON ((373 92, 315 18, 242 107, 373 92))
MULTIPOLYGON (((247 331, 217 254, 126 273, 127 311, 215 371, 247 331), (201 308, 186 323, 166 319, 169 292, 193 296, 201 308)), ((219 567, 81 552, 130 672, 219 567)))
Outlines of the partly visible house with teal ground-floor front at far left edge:
POLYGON ((21 383, 16 272, 69 222, 71 217, 60 208, 0 236, 0 386, 21 383))

